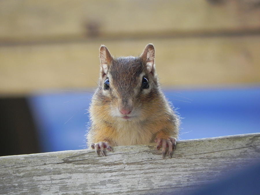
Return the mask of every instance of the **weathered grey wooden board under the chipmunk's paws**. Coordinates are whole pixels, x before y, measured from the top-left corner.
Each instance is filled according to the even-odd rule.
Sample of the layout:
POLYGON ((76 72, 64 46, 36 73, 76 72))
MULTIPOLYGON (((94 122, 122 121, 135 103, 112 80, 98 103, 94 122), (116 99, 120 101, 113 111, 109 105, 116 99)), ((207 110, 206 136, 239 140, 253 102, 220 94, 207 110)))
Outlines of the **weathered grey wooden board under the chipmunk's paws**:
POLYGON ((182 140, 171 159, 155 144, 0 157, 0 194, 183 194, 260 159, 260 133, 182 140))

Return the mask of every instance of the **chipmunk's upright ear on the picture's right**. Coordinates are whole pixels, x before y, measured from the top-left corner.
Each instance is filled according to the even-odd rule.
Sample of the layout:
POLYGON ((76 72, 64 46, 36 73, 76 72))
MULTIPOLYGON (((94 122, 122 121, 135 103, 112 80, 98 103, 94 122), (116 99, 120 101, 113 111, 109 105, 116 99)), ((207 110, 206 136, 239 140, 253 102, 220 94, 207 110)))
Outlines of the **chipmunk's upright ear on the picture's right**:
POLYGON ((141 60, 143 61, 146 69, 149 73, 154 73, 154 47, 153 44, 148 44, 144 48, 143 53, 140 55, 141 60))

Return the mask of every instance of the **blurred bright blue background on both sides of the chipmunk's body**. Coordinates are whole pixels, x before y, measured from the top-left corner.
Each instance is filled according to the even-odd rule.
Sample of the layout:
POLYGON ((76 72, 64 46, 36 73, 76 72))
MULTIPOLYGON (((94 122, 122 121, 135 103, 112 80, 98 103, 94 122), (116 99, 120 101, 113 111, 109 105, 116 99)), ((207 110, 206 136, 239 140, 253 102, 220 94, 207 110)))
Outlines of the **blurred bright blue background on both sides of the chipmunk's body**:
MULTIPOLYGON (((182 118, 179 140, 259 132, 260 86, 175 89, 165 94, 182 118)), ((53 92, 29 98, 42 152, 86 148, 91 95, 53 92)))

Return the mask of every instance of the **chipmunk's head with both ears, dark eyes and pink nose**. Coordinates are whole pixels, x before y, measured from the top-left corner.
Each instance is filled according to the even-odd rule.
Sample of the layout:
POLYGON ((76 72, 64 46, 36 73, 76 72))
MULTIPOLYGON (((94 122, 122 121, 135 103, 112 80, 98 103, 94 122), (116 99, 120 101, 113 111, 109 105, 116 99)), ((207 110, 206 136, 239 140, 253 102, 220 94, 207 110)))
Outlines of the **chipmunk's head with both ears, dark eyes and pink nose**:
POLYGON ((146 45, 138 57, 113 58, 106 46, 100 47, 99 97, 112 118, 129 121, 147 116, 149 103, 157 98, 155 50, 146 45))

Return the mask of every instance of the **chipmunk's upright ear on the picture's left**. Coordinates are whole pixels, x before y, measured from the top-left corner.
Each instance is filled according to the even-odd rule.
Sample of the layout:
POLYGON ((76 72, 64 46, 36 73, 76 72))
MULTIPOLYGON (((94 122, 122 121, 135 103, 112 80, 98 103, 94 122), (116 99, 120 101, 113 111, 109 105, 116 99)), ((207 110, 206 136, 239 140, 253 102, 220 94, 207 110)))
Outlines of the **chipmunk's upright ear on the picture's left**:
POLYGON ((111 64, 113 57, 111 56, 109 50, 105 45, 101 45, 99 49, 99 58, 100 58, 100 65, 101 65, 101 72, 102 75, 106 75, 109 65, 111 64))

